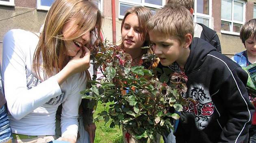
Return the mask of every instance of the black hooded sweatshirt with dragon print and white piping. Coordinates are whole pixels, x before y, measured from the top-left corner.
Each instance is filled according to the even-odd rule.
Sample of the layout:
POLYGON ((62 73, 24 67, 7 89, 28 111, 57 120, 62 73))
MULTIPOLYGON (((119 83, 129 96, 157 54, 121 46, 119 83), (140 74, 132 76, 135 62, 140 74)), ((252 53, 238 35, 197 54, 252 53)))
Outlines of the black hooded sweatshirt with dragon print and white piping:
POLYGON ((177 143, 242 143, 254 106, 245 85, 248 75, 200 38, 193 38, 185 64, 189 106, 181 112, 177 143))

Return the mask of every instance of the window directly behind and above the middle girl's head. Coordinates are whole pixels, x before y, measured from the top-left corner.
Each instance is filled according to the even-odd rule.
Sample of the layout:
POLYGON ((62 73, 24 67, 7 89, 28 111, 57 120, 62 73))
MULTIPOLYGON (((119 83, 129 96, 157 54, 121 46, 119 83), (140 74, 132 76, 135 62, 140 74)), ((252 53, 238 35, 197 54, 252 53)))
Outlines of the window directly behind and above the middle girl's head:
POLYGON ((164 5, 165 0, 119 0, 119 18, 123 19, 126 11, 133 6, 145 6, 154 14, 157 8, 164 5))

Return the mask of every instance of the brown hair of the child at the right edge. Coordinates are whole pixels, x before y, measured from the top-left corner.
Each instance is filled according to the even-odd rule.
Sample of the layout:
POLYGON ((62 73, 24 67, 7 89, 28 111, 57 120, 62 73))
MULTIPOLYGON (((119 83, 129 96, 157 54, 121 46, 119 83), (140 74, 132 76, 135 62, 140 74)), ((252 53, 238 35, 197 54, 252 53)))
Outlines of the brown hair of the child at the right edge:
MULTIPOLYGON (((256 38, 256 19, 247 21, 240 29, 240 39, 245 45, 245 40, 249 37, 256 38)), ((245 47, 246 48, 246 47, 245 47)))

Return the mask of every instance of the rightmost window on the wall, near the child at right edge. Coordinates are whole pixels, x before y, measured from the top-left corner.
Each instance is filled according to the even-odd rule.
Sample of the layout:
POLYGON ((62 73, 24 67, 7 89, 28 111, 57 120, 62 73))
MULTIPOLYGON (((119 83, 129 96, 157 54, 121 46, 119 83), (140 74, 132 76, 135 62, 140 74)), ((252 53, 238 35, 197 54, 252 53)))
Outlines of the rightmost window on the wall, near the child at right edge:
POLYGON ((221 0, 221 33, 239 35, 245 23, 245 2, 221 0))

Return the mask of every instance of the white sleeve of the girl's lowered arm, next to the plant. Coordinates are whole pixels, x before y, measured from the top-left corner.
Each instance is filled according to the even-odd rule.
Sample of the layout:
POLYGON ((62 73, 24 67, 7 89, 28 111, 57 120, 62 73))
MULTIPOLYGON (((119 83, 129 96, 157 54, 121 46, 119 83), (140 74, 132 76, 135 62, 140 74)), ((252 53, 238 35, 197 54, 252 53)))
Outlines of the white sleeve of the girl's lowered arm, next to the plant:
POLYGON ((75 135, 77 137, 78 132, 78 108, 80 106, 82 95, 80 91, 86 87, 86 73, 84 72, 82 78, 80 73, 74 75, 77 78, 72 79, 72 91, 71 95, 62 103, 61 112, 61 137, 65 135, 75 135), (79 78, 78 78, 79 77, 79 78))

